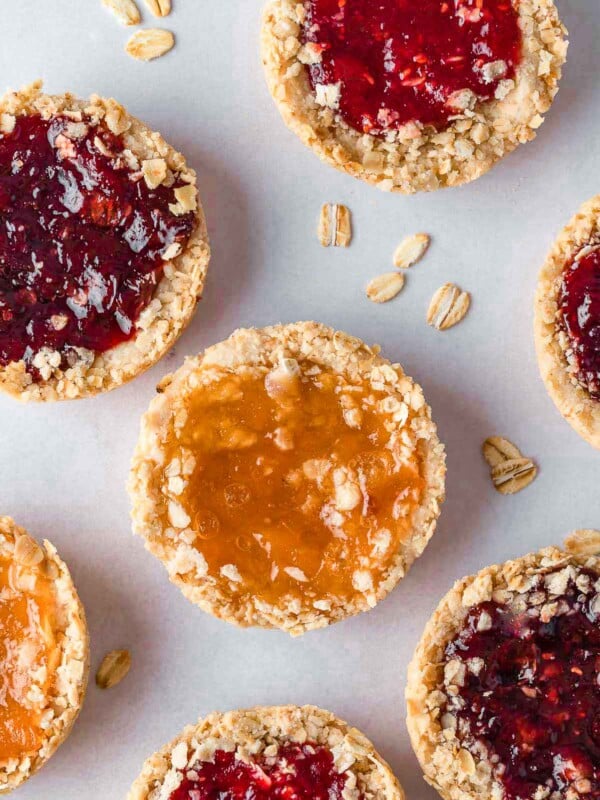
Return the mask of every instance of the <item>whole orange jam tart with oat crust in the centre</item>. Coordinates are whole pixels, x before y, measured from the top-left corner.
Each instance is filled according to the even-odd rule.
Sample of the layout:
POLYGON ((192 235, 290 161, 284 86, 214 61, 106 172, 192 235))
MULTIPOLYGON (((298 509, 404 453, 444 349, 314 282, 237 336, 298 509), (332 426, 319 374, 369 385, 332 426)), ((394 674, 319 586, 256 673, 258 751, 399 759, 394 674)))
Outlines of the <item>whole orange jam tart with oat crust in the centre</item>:
POLYGON ((189 600, 300 634, 372 608, 423 552, 444 448, 377 352, 314 322, 239 330, 159 387, 134 530, 189 600))

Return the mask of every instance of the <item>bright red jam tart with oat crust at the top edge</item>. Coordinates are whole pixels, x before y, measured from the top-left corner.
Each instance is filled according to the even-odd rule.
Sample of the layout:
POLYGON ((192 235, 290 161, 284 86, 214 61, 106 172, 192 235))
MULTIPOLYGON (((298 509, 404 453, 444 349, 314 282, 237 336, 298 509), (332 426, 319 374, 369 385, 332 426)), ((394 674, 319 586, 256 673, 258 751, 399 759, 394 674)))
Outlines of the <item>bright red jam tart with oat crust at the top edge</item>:
POLYGON ((534 138, 565 35, 552 0, 270 0, 262 57, 323 161, 412 194, 472 181, 534 138))

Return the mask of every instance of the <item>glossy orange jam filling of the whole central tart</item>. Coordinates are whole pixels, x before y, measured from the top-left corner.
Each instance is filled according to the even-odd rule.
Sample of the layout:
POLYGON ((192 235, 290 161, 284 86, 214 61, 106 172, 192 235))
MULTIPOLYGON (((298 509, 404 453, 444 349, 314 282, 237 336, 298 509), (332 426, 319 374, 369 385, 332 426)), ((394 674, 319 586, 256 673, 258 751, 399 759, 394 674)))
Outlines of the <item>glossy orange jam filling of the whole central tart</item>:
POLYGON ((285 359, 219 373, 184 403, 165 524, 185 529, 206 574, 272 605, 374 598, 423 488, 401 399, 285 359))

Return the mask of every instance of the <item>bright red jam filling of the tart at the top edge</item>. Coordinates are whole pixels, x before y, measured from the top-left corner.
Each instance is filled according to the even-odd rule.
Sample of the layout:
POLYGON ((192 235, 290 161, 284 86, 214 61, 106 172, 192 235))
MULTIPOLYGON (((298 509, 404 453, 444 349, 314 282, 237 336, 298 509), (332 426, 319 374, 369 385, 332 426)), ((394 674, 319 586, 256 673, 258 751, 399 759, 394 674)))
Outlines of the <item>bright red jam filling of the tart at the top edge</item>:
POLYGON ((322 59, 308 67, 313 89, 338 84, 338 113, 360 132, 383 135, 411 121, 446 127, 462 110, 456 92, 489 100, 500 80, 514 78, 522 44, 514 5, 307 0, 303 42, 322 59))

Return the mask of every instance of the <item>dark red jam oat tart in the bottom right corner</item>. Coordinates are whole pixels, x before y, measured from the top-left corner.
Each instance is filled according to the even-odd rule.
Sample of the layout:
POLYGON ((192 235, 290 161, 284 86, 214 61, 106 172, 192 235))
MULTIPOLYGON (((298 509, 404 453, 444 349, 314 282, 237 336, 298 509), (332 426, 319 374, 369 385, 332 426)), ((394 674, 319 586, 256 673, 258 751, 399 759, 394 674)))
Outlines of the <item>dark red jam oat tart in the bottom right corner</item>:
POLYGON ((464 578, 409 667, 408 728, 447 800, 600 797, 600 559, 548 548, 464 578))

